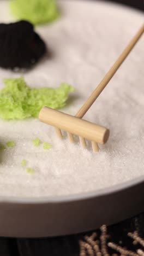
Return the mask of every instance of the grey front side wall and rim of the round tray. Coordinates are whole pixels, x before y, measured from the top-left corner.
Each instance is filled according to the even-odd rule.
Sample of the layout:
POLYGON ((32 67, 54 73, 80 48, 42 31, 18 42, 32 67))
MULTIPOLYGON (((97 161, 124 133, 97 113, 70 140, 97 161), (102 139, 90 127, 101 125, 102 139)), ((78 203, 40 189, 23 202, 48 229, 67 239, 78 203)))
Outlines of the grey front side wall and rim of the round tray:
POLYGON ((144 177, 97 192, 41 199, 0 199, 0 236, 75 234, 144 211, 144 177))

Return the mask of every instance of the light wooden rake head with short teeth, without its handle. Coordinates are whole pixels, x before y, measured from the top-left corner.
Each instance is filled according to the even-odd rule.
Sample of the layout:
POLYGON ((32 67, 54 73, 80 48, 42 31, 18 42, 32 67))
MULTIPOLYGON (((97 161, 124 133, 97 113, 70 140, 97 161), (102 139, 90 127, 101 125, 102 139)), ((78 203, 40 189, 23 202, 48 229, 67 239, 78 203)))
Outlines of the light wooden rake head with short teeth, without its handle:
POLYGON ((106 129, 103 126, 48 107, 41 109, 39 120, 55 127, 56 133, 61 139, 63 138, 61 130, 68 133, 71 143, 75 142, 73 135, 79 136, 82 148, 86 148, 85 139, 92 141, 93 152, 98 152, 98 143, 105 144, 110 135, 109 129, 106 129))

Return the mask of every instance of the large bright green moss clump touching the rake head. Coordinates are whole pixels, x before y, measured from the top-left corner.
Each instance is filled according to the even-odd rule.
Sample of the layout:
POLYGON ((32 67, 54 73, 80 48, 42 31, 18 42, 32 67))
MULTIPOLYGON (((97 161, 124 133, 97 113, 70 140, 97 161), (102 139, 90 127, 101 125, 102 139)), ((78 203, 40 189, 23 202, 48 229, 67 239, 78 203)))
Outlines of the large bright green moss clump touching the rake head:
POLYGON ((74 88, 61 84, 59 88, 29 88, 23 77, 4 79, 5 87, 0 91, 0 118, 18 120, 37 118, 44 106, 59 109, 66 105, 69 92, 74 88))

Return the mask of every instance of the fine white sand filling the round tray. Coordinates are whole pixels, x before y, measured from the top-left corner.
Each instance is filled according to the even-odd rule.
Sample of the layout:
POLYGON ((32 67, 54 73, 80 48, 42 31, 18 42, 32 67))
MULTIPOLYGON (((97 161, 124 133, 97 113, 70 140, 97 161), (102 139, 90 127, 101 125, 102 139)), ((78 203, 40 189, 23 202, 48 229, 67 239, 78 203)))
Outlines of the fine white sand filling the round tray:
MULTIPOLYGON (((100 2, 66 0, 59 5, 62 18, 37 29, 53 57, 27 72, 25 79, 34 87, 56 87, 61 82, 74 85, 76 91, 64 109, 74 115, 141 26, 143 14, 100 2)), ((3 1, 2 6, 1 21, 10 20, 3 1)), ((0 196, 75 194, 144 174, 143 43, 144 37, 85 117, 111 131, 109 142, 98 154, 68 140, 60 142, 53 128, 37 119, 0 121, 1 142, 11 139, 16 143, 0 155, 0 196), (51 143, 52 149, 34 148, 35 137, 51 143), (27 167, 35 169, 33 175, 20 166, 23 158, 27 167)), ((3 78, 17 76, 0 69, 0 88, 3 78)))

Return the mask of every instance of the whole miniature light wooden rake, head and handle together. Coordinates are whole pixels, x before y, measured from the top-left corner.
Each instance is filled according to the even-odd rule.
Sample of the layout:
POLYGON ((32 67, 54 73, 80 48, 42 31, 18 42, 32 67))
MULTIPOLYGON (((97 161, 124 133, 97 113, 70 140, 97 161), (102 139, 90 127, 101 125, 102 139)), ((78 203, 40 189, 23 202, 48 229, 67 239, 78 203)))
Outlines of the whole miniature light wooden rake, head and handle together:
POLYGON ((144 24, 140 30, 136 33, 134 38, 128 44, 127 48, 118 57, 115 64, 110 68, 109 72, 105 75, 104 79, 100 82, 97 88, 93 91, 92 95, 80 108, 79 112, 74 116, 62 113, 58 110, 54 110, 48 107, 44 107, 40 110, 39 120, 43 123, 52 125, 56 129, 57 136, 62 139, 63 135, 61 130, 67 131, 69 141, 74 143, 74 136, 79 136, 80 144, 82 148, 86 148, 86 139, 92 141, 93 152, 99 151, 99 144, 105 144, 109 139, 110 131, 103 126, 82 120, 83 116, 87 113, 88 109, 97 100, 98 96, 104 90, 106 85, 110 82, 117 69, 122 65, 130 51, 134 48, 137 41, 140 39, 144 32, 144 24))

